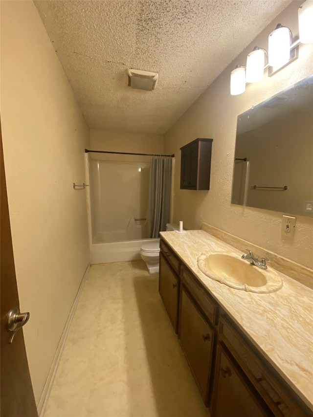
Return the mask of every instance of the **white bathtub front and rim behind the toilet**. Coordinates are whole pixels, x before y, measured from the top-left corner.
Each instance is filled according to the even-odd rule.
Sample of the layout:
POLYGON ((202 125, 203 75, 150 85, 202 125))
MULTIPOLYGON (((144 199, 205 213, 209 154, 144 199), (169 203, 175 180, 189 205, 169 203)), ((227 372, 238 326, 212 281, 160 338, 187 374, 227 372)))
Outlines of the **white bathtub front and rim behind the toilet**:
POLYGON ((109 263, 135 261, 141 259, 140 248, 144 243, 159 239, 142 239, 113 243, 92 243, 90 245, 90 263, 109 263))

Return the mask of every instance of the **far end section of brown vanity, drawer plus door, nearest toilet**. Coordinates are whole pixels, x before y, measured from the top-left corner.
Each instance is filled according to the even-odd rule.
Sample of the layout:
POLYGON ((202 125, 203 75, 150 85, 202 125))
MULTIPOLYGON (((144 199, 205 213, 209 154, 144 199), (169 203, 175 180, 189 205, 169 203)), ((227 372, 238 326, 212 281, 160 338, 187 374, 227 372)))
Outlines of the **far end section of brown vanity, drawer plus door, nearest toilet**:
POLYGON ((179 259, 166 243, 160 241, 158 291, 176 333, 178 331, 179 267, 179 259))

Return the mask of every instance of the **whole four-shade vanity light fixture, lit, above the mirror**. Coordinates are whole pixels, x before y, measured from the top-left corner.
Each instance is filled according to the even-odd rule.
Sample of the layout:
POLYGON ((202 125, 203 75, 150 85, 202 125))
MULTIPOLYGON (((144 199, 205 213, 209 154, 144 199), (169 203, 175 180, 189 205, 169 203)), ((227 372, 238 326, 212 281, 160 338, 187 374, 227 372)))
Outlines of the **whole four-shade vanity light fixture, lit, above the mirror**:
POLYGON ((268 54, 265 49, 255 46, 246 60, 246 67, 237 65, 230 73, 230 94, 246 91, 246 83, 262 80, 264 70, 268 77, 298 58, 298 45, 313 43, 313 0, 305 0, 298 9, 299 37, 292 40, 291 30, 278 23, 268 36, 268 54), (266 59, 268 55, 268 60, 266 59), (266 62, 268 61, 268 62, 266 62), (263 65, 263 67, 262 67, 263 65), (245 85, 243 82, 246 73, 245 85))

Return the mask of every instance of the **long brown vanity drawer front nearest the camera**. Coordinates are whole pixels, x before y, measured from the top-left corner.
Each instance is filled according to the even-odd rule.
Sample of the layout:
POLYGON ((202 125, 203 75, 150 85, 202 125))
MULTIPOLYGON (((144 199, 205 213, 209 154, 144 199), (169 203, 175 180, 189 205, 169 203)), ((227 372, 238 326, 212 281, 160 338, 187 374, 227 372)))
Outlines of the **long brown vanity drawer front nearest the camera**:
POLYGON ((249 348, 249 342, 238 334, 240 330, 231 323, 226 315, 220 317, 218 331, 220 341, 229 349, 250 382, 268 404, 274 416, 299 417, 312 415, 309 410, 304 411, 304 408, 300 406, 295 394, 283 378, 273 369, 269 370, 270 365, 268 364, 267 367, 264 359, 261 361, 257 353, 249 348), (277 377, 273 373, 277 374, 277 377))

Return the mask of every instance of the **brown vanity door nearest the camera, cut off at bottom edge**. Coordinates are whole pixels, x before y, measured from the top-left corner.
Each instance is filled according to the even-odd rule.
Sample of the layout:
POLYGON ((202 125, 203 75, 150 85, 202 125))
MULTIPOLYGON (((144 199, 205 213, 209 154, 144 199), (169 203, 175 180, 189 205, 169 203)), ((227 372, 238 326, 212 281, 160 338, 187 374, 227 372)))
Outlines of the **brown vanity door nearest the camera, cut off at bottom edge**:
POLYGON ((217 368, 214 388, 212 417, 264 417, 271 413, 262 405, 248 388, 231 359, 217 349, 217 368))

